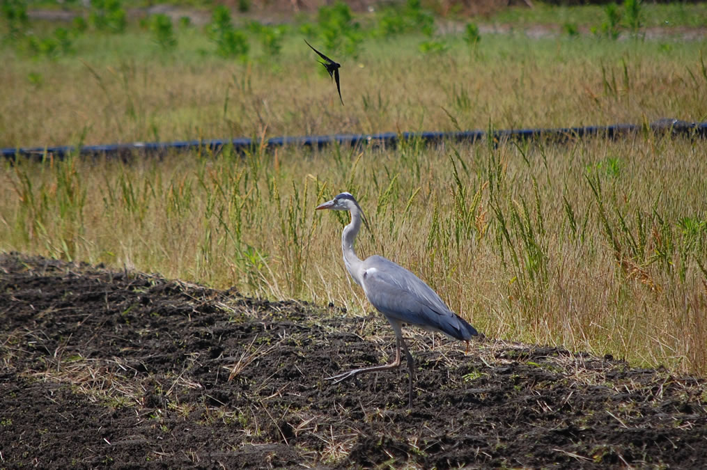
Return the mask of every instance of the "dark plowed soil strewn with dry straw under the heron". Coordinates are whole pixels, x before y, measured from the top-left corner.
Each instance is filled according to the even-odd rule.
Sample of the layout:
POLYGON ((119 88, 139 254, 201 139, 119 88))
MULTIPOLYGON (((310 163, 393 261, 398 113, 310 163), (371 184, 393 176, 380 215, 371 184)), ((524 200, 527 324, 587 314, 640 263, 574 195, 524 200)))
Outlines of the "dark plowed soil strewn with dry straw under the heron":
POLYGON ((707 385, 378 315, 0 254, 0 467, 707 466, 707 385), (231 377, 231 380, 229 380, 231 377))

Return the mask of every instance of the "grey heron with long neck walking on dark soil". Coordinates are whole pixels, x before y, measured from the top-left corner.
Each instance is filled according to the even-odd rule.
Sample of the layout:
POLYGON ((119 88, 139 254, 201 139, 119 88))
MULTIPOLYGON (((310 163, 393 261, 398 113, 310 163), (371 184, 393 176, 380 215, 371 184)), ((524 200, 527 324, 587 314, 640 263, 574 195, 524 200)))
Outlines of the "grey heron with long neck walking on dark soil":
POLYGON ((373 255, 361 260, 354 251, 354 241, 361 229, 363 211, 358 202, 348 192, 342 192, 331 201, 317 206, 317 211, 332 209, 334 211, 349 211, 351 223, 344 227, 341 233, 341 251, 344 252, 344 264, 354 281, 363 288, 368 301, 381 312, 390 322, 395 331, 395 360, 386 365, 349 370, 327 380, 334 383, 346 380, 365 372, 391 370, 400 366, 400 345, 405 351, 407 367, 410 373, 409 404, 412 406, 412 380, 414 361, 402 337, 402 324, 411 324, 428 331, 440 331, 454 339, 467 341, 477 336, 477 330, 464 319, 456 315, 437 293, 426 283, 404 267, 390 259, 373 255))

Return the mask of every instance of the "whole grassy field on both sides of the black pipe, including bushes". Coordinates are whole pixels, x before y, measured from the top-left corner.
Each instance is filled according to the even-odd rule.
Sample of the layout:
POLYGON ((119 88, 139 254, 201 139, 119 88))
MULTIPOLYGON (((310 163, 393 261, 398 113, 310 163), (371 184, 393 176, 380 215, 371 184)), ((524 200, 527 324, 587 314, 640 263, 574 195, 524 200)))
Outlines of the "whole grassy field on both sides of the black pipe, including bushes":
MULTIPOLYGON (((628 4, 474 17, 337 4, 265 25, 255 6, 226 21, 197 4, 199 24, 71 4, 84 23, 57 24, 17 3, 0 48, 3 147, 707 119, 703 4, 633 7, 637 22, 628 4), (305 37, 341 62, 345 106, 305 37)), ((346 217, 313 211, 346 190, 373 227, 359 256, 407 266, 486 336, 703 374, 704 155, 703 141, 650 131, 128 164, 48 155, 4 164, 0 250, 363 315, 341 262, 346 217)))

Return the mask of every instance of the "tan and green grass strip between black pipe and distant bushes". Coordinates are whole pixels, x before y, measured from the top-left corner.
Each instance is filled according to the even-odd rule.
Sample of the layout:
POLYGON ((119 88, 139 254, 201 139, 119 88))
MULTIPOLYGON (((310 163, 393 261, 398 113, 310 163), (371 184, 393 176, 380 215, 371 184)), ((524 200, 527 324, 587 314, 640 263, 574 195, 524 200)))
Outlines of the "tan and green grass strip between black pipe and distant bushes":
POLYGON ((0 102, 0 146, 706 118, 700 42, 484 35, 470 49, 449 36, 447 52, 422 54, 421 36, 366 40, 358 59, 334 56, 346 104, 335 107, 299 35, 277 57, 253 42, 245 64, 216 57, 199 30, 176 37, 175 52, 135 31, 80 37, 54 60, 2 49, 14 93, 0 102))

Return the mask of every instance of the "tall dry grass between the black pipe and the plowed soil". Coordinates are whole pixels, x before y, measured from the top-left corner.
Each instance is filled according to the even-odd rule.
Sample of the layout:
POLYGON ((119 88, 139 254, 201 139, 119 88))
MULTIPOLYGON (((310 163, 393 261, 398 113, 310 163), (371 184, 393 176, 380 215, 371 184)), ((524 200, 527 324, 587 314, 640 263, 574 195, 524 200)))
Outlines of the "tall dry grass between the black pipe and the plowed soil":
POLYGON ((487 336, 705 370, 703 141, 650 134, 457 151, 468 172, 455 160, 459 182, 450 146, 24 162, 4 170, 1 249, 361 313, 370 307, 339 251, 346 218, 313 211, 349 190, 375 231, 375 241, 361 235, 360 256, 409 267, 487 336))

